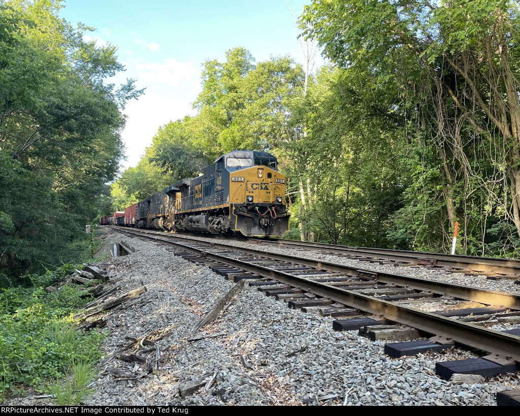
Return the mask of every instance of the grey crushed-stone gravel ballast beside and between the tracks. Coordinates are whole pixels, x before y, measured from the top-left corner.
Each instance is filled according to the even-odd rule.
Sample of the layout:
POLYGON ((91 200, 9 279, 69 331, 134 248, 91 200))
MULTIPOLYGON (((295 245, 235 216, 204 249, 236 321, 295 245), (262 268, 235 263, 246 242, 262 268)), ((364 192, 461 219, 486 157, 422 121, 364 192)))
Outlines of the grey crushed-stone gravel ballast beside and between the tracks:
MULTIPOLYGON (((372 342, 357 331, 334 332, 332 318, 289 309, 287 303, 267 297, 247 284, 217 320, 197 333, 224 335, 188 342, 192 328, 233 283, 207 267, 174 256, 165 246, 129 239, 111 229, 107 229, 107 234, 108 239, 124 240, 137 250, 100 266, 113 270, 110 282, 120 284, 118 294, 141 285, 146 286, 147 292, 108 314, 108 326, 102 329, 107 333, 101 347, 105 359, 92 386, 95 393, 84 405, 496 405, 497 392, 518 387, 517 374, 472 384, 440 379, 435 374, 436 362, 478 356, 452 349, 444 354, 389 358, 383 353, 384 341, 372 342), (157 345, 125 352, 121 349, 128 345, 127 337, 138 339, 165 329, 170 332, 158 342, 158 369, 149 372, 146 365, 118 358, 125 354, 153 358, 157 345), (148 353, 143 352, 146 348, 148 353), (124 375, 115 376, 107 371, 110 368, 120 369, 124 375), (211 386, 181 397, 179 387, 182 391, 201 376, 205 376, 204 381, 213 379, 211 386)), ((258 249, 258 245, 230 242, 258 249)), ((433 269, 369 266, 320 253, 262 248, 374 270, 392 269, 401 275, 518 292, 518 286, 510 281, 478 276, 463 283, 459 281, 462 275, 455 277, 433 269)), ((510 328, 514 327, 504 329, 510 328)), ((8 401, 10 405, 46 403, 48 399, 32 397, 8 401)))

